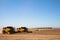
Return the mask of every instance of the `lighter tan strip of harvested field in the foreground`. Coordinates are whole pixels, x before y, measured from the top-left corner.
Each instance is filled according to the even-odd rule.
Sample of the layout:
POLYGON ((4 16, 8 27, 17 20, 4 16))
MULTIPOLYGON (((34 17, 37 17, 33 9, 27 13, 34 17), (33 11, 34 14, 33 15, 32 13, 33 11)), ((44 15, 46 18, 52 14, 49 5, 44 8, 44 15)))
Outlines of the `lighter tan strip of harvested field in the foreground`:
POLYGON ((2 35, 0 40, 60 40, 60 35, 2 35))

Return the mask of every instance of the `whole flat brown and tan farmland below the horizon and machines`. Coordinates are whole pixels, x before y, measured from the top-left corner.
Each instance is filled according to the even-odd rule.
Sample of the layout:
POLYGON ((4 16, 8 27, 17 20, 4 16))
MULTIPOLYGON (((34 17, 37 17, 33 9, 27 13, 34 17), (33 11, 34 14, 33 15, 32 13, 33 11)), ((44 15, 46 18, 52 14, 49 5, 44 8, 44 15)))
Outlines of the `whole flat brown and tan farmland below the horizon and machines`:
POLYGON ((0 40, 60 40, 60 29, 33 31, 32 33, 0 34, 0 40))

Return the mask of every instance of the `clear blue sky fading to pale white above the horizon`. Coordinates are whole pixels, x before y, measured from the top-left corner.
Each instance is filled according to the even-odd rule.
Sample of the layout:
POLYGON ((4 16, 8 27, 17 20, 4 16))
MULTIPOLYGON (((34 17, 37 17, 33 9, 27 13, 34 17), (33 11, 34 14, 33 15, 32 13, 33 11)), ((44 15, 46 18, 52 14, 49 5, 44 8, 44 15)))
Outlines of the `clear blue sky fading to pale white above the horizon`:
POLYGON ((60 0, 0 0, 0 27, 60 27, 60 0))

